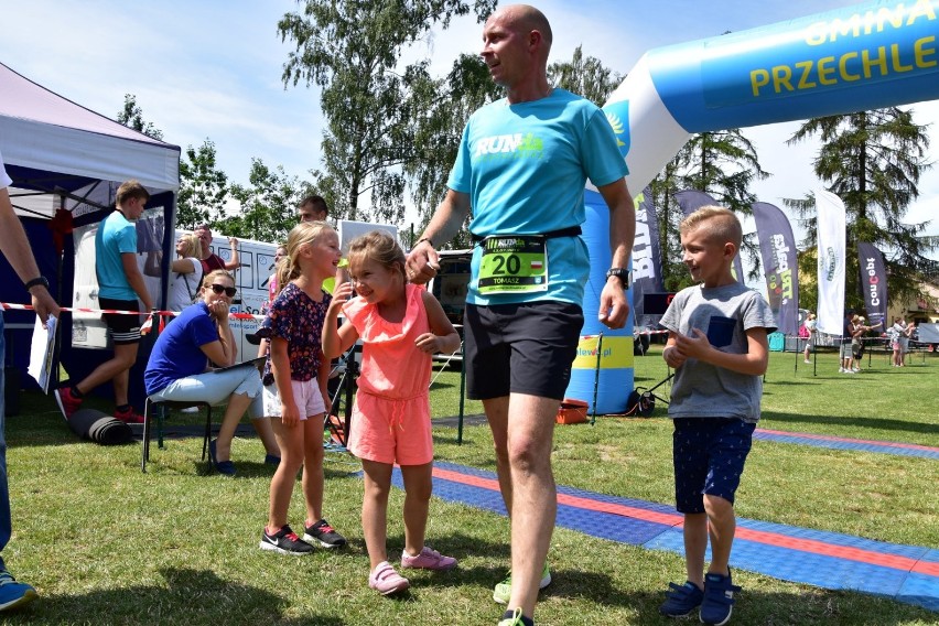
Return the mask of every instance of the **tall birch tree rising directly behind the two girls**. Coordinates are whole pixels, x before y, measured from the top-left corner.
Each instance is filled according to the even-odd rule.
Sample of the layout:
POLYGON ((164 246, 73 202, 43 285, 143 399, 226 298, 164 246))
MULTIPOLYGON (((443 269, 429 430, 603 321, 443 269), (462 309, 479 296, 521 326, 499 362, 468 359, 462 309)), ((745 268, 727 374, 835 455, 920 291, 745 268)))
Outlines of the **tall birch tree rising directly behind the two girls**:
MULTIPOLYGON (((472 10, 488 15, 496 0, 475 0, 472 10)), ((295 43, 283 67, 285 86, 303 80, 322 87, 327 120, 323 138, 325 172, 336 195, 336 216, 398 222, 403 216, 402 168, 413 159, 414 108, 410 77, 427 62, 399 68, 408 46, 454 15, 464 15, 464 0, 305 0, 301 11, 278 23, 282 41, 295 43), (359 207, 369 195, 371 209, 359 207)))

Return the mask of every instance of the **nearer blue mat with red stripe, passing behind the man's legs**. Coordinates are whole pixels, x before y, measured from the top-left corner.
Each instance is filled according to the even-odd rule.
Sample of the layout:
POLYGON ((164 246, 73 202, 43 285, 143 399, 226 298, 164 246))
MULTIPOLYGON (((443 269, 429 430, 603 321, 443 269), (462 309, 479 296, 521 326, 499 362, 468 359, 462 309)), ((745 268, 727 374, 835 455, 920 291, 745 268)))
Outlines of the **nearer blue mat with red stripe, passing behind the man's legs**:
MULTIPOLYGON (((435 463, 433 477, 436 497, 506 515, 492 472, 435 463)), ((402 485, 397 470, 395 483, 402 485)), ((585 535, 683 553, 681 522, 671 506, 558 487, 558 525, 585 535)), ((738 518, 731 564, 939 612, 939 550, 738 518)))

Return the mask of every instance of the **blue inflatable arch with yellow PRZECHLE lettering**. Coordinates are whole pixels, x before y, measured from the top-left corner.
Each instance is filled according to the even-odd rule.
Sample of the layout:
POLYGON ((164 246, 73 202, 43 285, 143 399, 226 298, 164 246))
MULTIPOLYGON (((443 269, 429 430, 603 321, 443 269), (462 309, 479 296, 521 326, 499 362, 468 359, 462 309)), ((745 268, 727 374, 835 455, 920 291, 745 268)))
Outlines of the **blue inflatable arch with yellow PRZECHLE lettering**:
MULTIPOLYGON (((646 53, 603 107, 629 188, 644 190, 697 132, 939 98, 937 14, 939 0, 881 0, 646 53)), ((622 413, 633 389, 633 327, 596 322, 608 213, 594 188, 585 202, 592 269, 568 396, 593 410, 596 395, 597 413, 622 413)))

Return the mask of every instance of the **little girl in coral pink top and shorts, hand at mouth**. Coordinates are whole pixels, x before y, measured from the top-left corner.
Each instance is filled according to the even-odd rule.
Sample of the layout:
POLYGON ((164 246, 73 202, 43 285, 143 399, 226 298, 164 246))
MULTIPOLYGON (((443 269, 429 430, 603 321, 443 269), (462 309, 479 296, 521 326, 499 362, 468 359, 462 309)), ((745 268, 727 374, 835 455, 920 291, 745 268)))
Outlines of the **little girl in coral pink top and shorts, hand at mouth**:
POLYGON ((436 299, 404 280, 404 252, 390 236, 369 233, 348 250, 352 282, 336 287, 323 326, 326 358, 361 338, 361 375, 352 417, 349 450, 361 460, 361 526, 371 572, 382 595, 403 591, 408 579, 388 562, 387 517, 391 471, 404 479, 404 551, 401 568, 450 570, 456 559, 424 544, 431 496, 431 355, 452 353, 460 335, 436 299), (358 296, 349 300, 353 288, 358 296), (346 323, 338 328, 339 310, 346 323))

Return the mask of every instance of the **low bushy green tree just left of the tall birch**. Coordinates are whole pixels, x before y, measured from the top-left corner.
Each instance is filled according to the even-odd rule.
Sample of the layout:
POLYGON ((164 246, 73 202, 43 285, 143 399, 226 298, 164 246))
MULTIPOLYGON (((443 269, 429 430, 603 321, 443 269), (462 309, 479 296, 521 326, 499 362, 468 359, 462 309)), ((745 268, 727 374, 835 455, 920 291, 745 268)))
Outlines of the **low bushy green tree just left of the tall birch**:
POLYGON ((296 225, 296 207, 312 188, 298 176, 288 176, 283 165, 271 170, 260 159, 251 159, 247 186, 233 184, 231 197, 241 205, 237 216, 229 216, 215 225, 226 235, 285 241, 287 234, 296 225))

